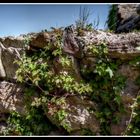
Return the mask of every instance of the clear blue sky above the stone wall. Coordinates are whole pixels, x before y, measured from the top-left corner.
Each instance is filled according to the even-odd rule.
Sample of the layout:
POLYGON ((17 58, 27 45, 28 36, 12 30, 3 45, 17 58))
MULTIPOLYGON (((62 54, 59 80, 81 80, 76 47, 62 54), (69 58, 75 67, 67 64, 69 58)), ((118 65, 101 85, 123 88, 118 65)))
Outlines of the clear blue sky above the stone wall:
MULTIPOLYGON (((81 4, 1 4, 0 37, 39 32, 50 27, 75 24, 81 4)), ((85 6, 83 4, 82 6, 85 6)), ((89 23, 99 16, 99 29, 104 29, 109 4, 86 4, 89 23)))

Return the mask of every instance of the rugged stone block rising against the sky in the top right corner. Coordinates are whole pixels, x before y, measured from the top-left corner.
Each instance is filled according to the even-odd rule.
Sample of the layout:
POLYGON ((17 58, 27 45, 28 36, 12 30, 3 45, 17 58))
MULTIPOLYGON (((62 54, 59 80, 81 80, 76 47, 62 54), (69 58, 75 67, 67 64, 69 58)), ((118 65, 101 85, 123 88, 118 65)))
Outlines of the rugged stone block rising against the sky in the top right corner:
POLYGON ((117 9, 117 33, 140 29, 139 4, 119 4, 117 9))

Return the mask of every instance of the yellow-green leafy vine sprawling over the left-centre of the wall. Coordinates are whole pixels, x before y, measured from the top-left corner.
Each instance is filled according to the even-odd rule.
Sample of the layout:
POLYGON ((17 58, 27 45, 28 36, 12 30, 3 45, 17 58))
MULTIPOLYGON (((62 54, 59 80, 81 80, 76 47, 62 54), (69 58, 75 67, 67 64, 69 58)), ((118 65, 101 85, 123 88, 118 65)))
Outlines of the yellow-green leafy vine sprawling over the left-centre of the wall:
MULTIPOLYGON (((28 42, 26 45, 28 45, 28 42)), ((76 82, 73 75, 67 71, 67 68, 69 69, 72 66, 72 61, 70 61, 67 56, 62 55, 60 47, 61 38, 58 37, 56 45, 57 47, 52 49, 52 46, 48 44, 44 50, 38 50, 37 52, 33 52, 33 54, 30 54, 30 52, 24 52, 21 60, 15 61, 15 63, 19 65, 16 75, 18 82, 24 83, 28 88, 25 96, 30 95, 33 97, 36 94, 38 96, 34 98, 33 101, 30 100, 30 104, 28 106, 32 106, 37 109, 40 107, 46 107, 45 111, 52 110, 52 112, 55 112, 54 118, 60 122, 60 126, 70 132, 71 129, 69 125, 64 121, 64 118, 67 116, 67 112, 63 109, 59 110, 52 108, 51 104, 58 106, 57 101, 63 96, 74 95, 76 93, 89 94, 89 92, 92 92, 92 88, 84 81, 81 81, 80 83, 76 82), (56 74, 57 67, 55 67, 55 63, 57 63, 56 58, 59 61, 58 65, 60 66, 58 74, 56 74), (57 100, 55 99, 56 97, 58 98, 57 100)), ((29 113, 31 108, 27 108, 29 113)), ((38 114, 36 114, 36 116, 38 116, 38 114)), ((25 118, 26 117, 27 116, 25 116, 25 118)), ((22 117, 20 119, 22 120, 22 117)), ((24 123, 19 125, 24 126, 24 123)), ((24 129, 26 129, 26 127, 24 127, 24 129)), ((37 131, 32 129, 31 132, 31 134, 39 134, 37 131)))

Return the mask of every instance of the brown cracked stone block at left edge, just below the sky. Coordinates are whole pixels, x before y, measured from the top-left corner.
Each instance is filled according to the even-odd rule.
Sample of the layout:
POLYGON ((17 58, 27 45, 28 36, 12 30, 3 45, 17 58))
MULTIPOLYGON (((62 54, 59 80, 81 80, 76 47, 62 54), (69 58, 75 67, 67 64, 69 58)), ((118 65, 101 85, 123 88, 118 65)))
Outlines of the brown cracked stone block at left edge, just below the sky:
POLYGON ((0 78, 15 80, 18 66, 14 61, 19 60, 23 52, 23 38, 8 37, 3 40, 0 41, 0 78))

